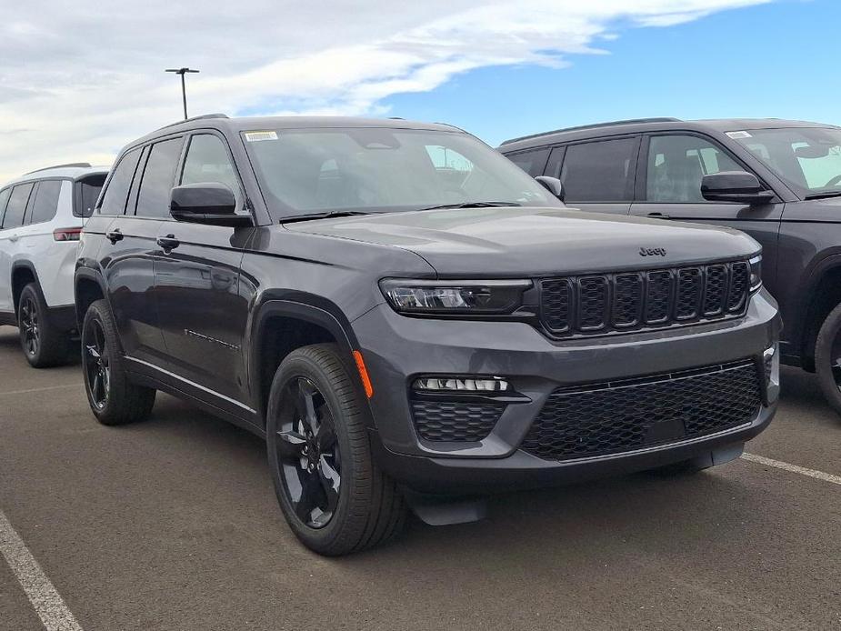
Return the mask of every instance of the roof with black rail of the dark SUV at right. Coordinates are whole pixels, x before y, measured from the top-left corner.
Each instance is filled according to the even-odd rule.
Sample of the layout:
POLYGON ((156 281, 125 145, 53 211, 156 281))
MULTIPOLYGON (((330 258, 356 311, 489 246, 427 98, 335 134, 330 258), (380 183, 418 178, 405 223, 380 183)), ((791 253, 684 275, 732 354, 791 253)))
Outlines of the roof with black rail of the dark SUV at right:
POLYGON ((635 118, 623 121, 611 121, 596 125, 578 125, 556 129, 542 134, 526 135, 506 140, 500 149, 506 153, 519 149, 541 145, 554 145, 570 140, 586 140, 589 138, 636 134, 652 131, 706 131, 724 133, 730 131, 751 129, 779 129, 783 127, 835 127, 824 123, 810 123, 807 121, 792 121, 782 118, 716 118, 708 120, 684 121, 679 118, 635 118))

